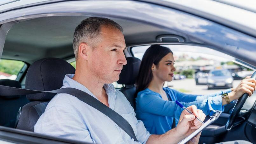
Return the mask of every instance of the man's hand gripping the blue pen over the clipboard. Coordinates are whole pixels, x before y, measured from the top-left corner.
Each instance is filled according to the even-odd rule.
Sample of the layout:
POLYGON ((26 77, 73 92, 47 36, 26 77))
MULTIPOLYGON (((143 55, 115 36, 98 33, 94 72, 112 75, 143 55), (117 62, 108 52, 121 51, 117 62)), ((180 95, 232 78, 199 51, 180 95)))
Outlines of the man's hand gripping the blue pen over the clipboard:
MULTIPOLYGON (((190 112, 192 112, 194 115, 188 113, 186 110, 183 110, 183 112, 181 113, 179 123, 175 128, 175 134, 179 136, 179 141, 183 140, 185 137, 187 137, 203 125, 195 118, 195 116, 202 121, 204 121, 205 119, 205 114, 202 110, 197 109, 197 106, 189 106, 187 107, 187 109, 189 109, 190 112)), ((197 134, 196 137, 190 140, 190 143, 198 143, 200 135, 201 133, 197 134)))

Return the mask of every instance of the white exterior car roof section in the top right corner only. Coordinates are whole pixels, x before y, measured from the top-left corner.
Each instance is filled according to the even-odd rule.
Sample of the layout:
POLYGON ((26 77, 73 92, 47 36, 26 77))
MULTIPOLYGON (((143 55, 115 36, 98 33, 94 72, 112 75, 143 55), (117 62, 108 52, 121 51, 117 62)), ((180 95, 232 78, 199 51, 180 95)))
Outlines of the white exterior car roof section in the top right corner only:
POLYGON ((163 0, 176 5, 181 10, 207 17, 215 22, 256 36, 256 2, 215 0, 163 0), (243 3, 243 4, 242 4, 243 3))

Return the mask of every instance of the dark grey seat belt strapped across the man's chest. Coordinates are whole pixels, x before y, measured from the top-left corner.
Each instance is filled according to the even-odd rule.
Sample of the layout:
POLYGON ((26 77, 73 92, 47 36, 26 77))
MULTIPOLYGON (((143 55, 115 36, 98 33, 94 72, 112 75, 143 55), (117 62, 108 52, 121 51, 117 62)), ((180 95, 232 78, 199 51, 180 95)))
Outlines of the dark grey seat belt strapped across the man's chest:
POLYGON ((86 104, 92 106, 93 108, 99 110, 101 113, 108 116, 111 120, 113 120, 121 129, 123 129, 131 138, 135 141, 138 141, 132 126, 125 120, 120 114, 116 113, 111 108, 107 107, 103 103, 101 103, 98 99, 95 99, 93 96, 89 95, 86 92, 83 92, 76 88, 61 88, 52 91, 37 91, 30 89, 22 89, 10 86, 1 86, 0 85, 0 95, 1 96, 12 96, 12 95, 26 95, 26 94, 35 94, 35 93, 67 93, 77 97, 79 100, 85 102, 86 104))

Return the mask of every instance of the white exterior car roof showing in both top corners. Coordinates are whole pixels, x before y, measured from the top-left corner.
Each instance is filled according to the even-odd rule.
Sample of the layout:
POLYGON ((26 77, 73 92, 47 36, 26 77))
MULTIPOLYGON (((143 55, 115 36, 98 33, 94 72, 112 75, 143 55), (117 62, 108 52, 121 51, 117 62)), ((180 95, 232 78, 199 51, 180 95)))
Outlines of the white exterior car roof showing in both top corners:
MULTIPOLYGON (((0 2, 0 13, 18 8, 35 6, 46 3, 57 3, 66 0, 4 0, 0 2)), ((70 0, 71 1, 71 0, 70 0)), ((236 30, 242 30, 256 37, 256 2, 236 2, 227 0, 140 0, 156 3, 182 10, 209 20, 224 24, 236 30)))

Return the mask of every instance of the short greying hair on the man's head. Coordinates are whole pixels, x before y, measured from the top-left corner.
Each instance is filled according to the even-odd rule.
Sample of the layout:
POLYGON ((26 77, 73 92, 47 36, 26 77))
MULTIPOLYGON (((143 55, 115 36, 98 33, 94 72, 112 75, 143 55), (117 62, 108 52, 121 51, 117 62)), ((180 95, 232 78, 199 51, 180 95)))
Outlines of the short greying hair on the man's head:
POLYGON ((81 42, 85 42, 91 47, 96 47, 96 43, 99 42, 100 28, 101 26, 112 26, 113 28, 123 32, 122 27, 111 19, 103 17, 89 17, 76 27, 73 35, 73 48, 75 58, 78 58, 78 46, 81 42))

